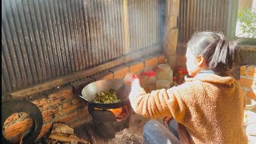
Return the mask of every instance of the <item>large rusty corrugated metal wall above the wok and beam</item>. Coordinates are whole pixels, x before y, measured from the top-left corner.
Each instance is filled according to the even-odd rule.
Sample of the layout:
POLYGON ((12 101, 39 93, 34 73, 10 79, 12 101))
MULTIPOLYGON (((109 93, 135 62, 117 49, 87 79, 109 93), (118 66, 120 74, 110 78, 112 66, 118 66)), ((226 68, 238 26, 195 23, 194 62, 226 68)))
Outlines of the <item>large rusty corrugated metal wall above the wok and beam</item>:
POLYGON ((160 41, 159 0, 2 0, 2 90, 10 92, 160 41))

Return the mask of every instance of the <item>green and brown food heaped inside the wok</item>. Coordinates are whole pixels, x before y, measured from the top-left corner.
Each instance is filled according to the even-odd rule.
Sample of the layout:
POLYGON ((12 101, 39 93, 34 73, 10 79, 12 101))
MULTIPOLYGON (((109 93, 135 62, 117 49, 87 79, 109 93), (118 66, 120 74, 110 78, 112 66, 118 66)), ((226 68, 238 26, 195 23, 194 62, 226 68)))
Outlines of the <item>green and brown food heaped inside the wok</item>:
POLYGON ((106 90, 103 93, 98 93, 96 98, 94 98, 93 102, 98 103, 114 103, 120 102, 116 95, 116 91, 114 89, 106 90))

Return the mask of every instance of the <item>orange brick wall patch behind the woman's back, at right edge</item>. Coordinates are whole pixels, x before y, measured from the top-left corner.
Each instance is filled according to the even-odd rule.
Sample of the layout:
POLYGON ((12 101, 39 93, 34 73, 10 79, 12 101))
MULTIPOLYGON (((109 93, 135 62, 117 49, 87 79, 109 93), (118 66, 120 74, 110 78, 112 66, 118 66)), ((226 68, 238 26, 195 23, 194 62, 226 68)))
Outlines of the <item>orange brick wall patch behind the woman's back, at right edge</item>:
POLYGON ((256 101, 256 66, 246 65, 240 67, 240 85, 246 93, 247 98, 256 101))

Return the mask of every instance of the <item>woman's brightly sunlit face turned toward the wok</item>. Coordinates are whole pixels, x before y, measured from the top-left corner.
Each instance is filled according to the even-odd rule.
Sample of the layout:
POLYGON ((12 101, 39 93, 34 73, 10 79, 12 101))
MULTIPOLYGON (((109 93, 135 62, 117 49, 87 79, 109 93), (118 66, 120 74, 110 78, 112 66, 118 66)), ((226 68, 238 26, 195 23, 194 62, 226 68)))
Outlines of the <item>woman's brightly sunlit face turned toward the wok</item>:
POLYGON ((186 68, 191 77, 196 76, 201 70, 198 58, 195 58, 190 49, 186 49, 186 68))

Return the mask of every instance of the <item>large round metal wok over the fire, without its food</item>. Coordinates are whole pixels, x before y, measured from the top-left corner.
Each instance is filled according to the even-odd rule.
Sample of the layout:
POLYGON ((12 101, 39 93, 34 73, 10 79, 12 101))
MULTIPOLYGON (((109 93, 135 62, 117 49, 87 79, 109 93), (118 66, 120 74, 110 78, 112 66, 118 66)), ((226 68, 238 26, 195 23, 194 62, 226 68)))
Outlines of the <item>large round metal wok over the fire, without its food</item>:
POLYGON ((130 100, 128 98, 130 94, 130 86, 126 86, 122 79, 105 79, 97 82, 92 82, 82 89, 82 96, 86 102, 90 105, 100 108, 100 109, 116 109, 124 105, 130 105, 130 100), (114 89, 117 91, 117 97, 120 102, 114 103, 98 103, 93 102, 98 93, 105 92, 106 90, 114 89))

